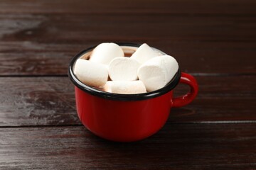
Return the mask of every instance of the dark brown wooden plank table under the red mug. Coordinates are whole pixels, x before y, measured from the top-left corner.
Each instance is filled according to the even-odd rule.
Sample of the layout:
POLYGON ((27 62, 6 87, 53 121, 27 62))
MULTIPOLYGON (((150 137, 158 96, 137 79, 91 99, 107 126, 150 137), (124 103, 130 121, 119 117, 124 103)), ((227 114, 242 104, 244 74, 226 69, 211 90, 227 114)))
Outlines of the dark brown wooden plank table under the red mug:
POLYGON ((0 169, 256 169, 255 6, 1 0, 0 169), (73 55, 100 42, 146 42, 176 57, 198 80, 196 100, 146 140, 92 135, 67 71, 73 55))

